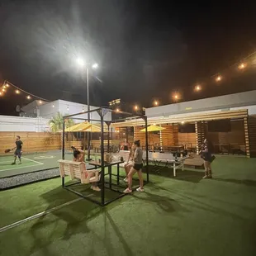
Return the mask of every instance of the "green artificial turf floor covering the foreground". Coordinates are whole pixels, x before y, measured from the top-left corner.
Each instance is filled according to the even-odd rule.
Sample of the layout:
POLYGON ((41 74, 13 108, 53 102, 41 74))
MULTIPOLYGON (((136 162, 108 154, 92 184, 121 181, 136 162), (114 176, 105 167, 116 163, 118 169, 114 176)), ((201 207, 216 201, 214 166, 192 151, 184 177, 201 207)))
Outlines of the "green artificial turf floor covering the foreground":
MULTIPOLYGON (((151 171, 145 193, 104 208, 80 200, 0 233, 0 255, 255 255, 256 159, 151 171)), ((78 198, 60 179, 0 192, 0 226, 78 198)))

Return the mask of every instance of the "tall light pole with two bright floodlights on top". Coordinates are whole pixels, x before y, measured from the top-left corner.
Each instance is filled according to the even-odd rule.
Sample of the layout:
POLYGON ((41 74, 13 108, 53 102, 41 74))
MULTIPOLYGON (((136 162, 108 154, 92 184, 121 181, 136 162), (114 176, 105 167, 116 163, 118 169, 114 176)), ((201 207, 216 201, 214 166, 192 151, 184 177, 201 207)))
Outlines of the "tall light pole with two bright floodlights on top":
MULTIPOLYGON (((90 97, 89 97, 89 66, 92 67, 92 69, 97 69, 98 68, 98 64, 94 63, 94 64, 85 64, 83 59, 77 59, 77 63, 78 65, 83 68, 86 65, 86 84, 87 84, 87 106, 88 106, 88 123, 91 121, 90 118, 90 97)), ((91 159, 91 143, 90 143, 90 132, 88 131, 88 161, 92 160, 91 159)))

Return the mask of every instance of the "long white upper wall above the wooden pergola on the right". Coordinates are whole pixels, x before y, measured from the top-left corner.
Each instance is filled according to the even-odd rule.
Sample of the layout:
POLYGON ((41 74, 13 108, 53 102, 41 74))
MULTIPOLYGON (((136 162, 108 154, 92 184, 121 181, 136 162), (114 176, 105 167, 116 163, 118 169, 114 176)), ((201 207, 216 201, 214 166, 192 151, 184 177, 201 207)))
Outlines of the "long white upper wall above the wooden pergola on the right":
MULTIPOLYGON (((169 116, 180 113, 211 110, 231 110, 232 108, 242 109, 246 106, 256 105, 256 90, 240 92, 220 97, 210 97, 191 102, 180 102, 159 107, 146 108, 146 116, 169 116)), ((253 110, 252 110, 253 111, 253 110)), ((250 114, 251 115, 251 114, 250 114)))

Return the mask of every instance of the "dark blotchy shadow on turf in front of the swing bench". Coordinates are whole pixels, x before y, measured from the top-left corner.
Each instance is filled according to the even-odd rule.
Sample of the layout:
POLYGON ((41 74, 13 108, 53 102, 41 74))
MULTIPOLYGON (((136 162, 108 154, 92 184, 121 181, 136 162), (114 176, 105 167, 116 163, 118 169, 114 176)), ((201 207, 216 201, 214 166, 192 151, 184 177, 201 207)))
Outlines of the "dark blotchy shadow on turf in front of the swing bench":
MULTIPOLYGON (((54 208, 56 206, 55 199, 58 197, 64 198, 64 195, 67 196, 67 193, 69 194, 63 187, 56 187, 50 192, 43 194, 41 197, 43 197, 45 201, 49 201, 49 206, 45 211, 54 208)), ((58 205, 60 205, 60 203, 58 205)), ((36 223, 31 226, 30 232, 34 239, 31 254, 40 248, 44 255, 54 255, 47 249, 48 245, 55 239, 69 239, 71 235, 90 232, 87 221, 97 217, 101 213, 101 207, 90 201, 81 199, 81 201, 76 201, 70 206, 52 211, 48 215, 55 216, 56 218, 41 216, 37 219, 36 223), (63 226, 63 222, 66 223, 66 226, 64 230, 61 230, 59 226, 63 226), (44 232, 42 232, 42 230, 44 230, 44 232), (45 230, 47 235, 42 235, 45 233, 45 230)))

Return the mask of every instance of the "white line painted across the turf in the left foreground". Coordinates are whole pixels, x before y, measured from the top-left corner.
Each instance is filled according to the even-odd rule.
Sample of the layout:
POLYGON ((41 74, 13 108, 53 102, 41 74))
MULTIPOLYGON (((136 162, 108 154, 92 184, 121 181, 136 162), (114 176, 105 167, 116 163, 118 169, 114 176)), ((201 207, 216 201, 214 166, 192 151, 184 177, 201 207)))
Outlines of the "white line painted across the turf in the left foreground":
POLYGON ((45 216, 45 215, 51 213, 52 211, 59 210, 60 208, 62 208, 62 207, 64 207, 64 206, 69 206, 69 205, 71 205, 72 203, 74 203, 74 202, 76 202, 76 201, 80 201, 80 200, 82 200, 82 199, 83 199, 83 198, 80 197, 80 198, 74 199, 74 200, 72 200, 72 201, 65 202, 65 203, 62 204, 62 205, 56 206, 56 207, 51 208, 51 209, 46 210, 46 211, 41 211, 40 213, 37 213, 36 215, 30 216, 30 217, 28 217, 28 218, 26 218, 26 219, 19 220, 19 221, 14 222, 14 223, 12 223, 12 224, 10 224, 10 225, 3 226, 2 228, 0 228, 0 233, 4 232, 4 231, 6 231, 6 230, 10 230, 10 229, 12 229, 12 228, 14 228, 14 227, 16 227, 16 226, 18 226, 18 225, 21 225, 21 224, 23 224, 23 223, 26 223, 27 221, 35 220, 36 218, 39 218, 40 216, 45 216))

